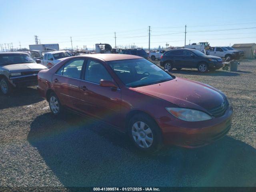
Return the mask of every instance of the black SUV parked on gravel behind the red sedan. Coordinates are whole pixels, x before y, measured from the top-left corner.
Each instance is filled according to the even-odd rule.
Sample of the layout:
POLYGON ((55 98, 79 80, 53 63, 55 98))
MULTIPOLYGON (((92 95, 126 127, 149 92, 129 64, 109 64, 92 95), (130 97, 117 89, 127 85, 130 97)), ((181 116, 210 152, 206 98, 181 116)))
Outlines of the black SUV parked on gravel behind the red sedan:
POLYGON ((170 71, 172 68, 197 68, 200 72, 222 68, 222 59, 206 55, 196 49, 174 49, 161 56, 160 65, 170 71))

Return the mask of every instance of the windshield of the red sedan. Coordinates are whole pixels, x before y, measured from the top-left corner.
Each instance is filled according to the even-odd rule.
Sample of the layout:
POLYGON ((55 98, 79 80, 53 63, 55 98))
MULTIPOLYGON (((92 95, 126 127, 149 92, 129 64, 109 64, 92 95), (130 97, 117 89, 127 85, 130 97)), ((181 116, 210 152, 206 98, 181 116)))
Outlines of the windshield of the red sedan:
POLYGON ((128 87, 140 87, 172 80, 174 77, 146 59, 107 62, 128 87))

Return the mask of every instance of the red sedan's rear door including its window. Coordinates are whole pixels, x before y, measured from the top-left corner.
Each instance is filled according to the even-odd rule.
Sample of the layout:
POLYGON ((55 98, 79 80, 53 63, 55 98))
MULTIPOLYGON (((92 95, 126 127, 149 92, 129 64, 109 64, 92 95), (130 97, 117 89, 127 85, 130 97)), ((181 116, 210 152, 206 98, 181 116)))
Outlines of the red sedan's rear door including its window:
POLYGON ((84 63, 83 58, 68 60, 52 76, 53 89, 60 102, 72 109, 78 109, 80 104, 80 81, 84 63))

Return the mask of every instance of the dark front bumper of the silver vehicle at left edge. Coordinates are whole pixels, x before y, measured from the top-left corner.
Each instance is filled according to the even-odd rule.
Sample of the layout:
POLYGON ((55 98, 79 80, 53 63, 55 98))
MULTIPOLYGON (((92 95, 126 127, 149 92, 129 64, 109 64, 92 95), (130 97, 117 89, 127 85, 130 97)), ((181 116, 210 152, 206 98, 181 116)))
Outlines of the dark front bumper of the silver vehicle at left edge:
POLYGON ((10 80, 15 87, 30 87, 36 86, 38 84, 37 74, 21 77, 11 77, 10 80))

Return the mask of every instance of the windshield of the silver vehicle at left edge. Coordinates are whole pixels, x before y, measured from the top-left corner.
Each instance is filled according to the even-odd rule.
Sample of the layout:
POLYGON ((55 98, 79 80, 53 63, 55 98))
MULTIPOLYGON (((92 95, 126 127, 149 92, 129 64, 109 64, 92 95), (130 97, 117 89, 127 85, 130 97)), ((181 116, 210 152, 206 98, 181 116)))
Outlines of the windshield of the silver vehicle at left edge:
POLYGON ((0 54, 0 65, 35 63, 28 54, 0 54))

